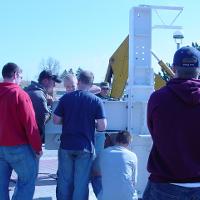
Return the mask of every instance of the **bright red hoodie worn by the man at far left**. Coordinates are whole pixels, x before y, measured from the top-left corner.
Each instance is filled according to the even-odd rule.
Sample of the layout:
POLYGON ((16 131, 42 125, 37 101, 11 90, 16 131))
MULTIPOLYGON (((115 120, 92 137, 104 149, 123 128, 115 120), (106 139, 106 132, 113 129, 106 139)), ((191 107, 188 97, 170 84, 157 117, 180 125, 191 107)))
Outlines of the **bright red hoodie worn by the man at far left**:
POLYGON ((17 84, 0 83, 0 146, 30 144, 41 151, 31 100, 17 84))

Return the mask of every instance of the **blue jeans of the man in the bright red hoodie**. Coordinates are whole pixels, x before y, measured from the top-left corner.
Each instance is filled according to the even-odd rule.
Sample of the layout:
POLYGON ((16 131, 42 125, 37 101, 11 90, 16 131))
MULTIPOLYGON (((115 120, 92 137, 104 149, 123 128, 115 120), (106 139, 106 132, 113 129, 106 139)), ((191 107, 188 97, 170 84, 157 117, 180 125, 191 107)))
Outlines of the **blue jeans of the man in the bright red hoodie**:
POLYGON ((32 200, 38 161, 29 145, 0 146, 0 199, 9 200, 9 181, 14 170, 18 176, 12 200, 32 200))

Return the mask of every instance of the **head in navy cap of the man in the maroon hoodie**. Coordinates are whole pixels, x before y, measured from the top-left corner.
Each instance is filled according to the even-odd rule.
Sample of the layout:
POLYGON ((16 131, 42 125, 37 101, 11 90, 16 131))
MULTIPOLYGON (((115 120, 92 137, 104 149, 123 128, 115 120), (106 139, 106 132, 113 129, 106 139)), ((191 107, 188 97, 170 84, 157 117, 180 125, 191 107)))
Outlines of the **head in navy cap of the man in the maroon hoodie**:
POLYGON ((176 78, 197 79, 200 72, 200 52, 194 47, 178 49, 173 58, 176 78))

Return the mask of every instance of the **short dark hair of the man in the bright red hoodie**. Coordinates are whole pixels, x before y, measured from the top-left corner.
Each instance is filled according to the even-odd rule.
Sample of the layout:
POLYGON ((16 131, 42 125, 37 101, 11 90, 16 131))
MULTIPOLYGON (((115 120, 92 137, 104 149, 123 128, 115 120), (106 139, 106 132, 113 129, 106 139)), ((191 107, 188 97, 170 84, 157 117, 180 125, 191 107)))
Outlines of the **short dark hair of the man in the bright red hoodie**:
POLYGON ((15 63, 7 63, 3 66, 2 76, 3 78, 12 78, 15 72, 21 72, 22 70, 15 63))

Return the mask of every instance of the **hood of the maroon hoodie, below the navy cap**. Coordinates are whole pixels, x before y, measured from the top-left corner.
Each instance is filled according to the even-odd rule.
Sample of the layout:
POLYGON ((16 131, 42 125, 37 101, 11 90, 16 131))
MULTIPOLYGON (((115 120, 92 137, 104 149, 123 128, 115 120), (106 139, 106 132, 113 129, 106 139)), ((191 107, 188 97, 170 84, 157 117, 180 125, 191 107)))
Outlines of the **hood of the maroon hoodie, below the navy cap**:
POLYGON ((167 87, 185 103, 200 104, 200 80, 175 78, 167 83, 167 87))

